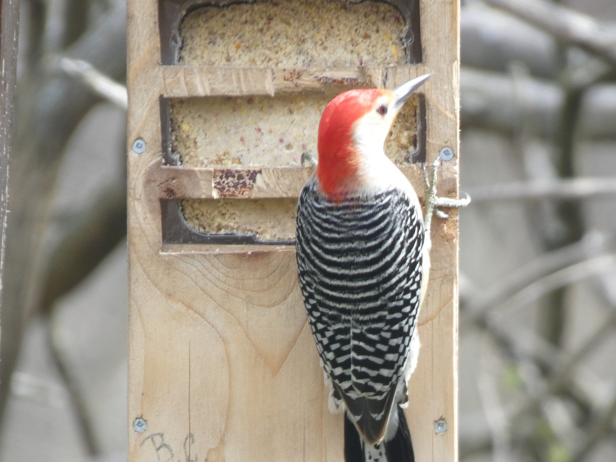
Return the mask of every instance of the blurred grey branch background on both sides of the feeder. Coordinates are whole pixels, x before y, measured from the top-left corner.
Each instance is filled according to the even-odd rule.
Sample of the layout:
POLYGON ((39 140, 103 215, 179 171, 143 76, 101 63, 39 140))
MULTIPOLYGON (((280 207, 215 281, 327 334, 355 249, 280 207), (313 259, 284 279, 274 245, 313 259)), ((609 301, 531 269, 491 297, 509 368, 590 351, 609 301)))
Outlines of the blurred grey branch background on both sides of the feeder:
MULTIPOLYGON (((0 460, 127 457, 125 18, 21 0, 0 460)), ((460 158, 460 459, 616 460, 614 0, 462 2, 460 158)))

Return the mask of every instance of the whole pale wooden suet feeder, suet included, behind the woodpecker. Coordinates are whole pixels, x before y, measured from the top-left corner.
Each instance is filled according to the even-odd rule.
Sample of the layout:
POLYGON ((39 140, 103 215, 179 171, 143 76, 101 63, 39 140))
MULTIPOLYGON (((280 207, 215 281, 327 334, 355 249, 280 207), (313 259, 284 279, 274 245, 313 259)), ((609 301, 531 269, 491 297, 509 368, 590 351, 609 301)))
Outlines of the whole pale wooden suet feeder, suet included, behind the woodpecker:
MULTIPOLYGON (((403 11, 400 30, 412 18, 416 33, 415 46, 384 48, 395 63, 286 65, 287 55, 268 47, 287 36, 270 41, 259 34, 283 28, 277 18, 288 0, 266 12, 269 24, 252 41, 237 38, 262 12, 248 10, 227 55, 208 62, 225 39, 221 30, 229 30, 224 15, 263 3, 213 7, 188 20, 201 14, 195 2, 128 2, 131 462, 342 460, 342 418, 328 411, 289 241, 294 202, 310 173, 299 164, 302 143, 315 152, 310 136, 330 96, 432 73, 408 115, 413 126, 395 129, 392 138, 414 140, 428 160, 452 148, 456 156, 440 169, 439 194, 457 195, 457 0, 392 1, 403 11), (205 45, 188 43, 191 22, 205 45), (181 46, 174 46, 178 36, 181 46), (236 52, 248 55, 254 47, 254 59, 271 54, 271 62, 234 64, 236 52), (297 128, 304 123, 306 129, 297 128)), ((315 14, 319 25, 329 17, 323 0, 296 3, 302 21, 315 14)), ((349 15, 356 7, 336 5, 349 15)), ((387 11, 381 16, 391 18, 387 11)), ((285 24, 294 30, 286 21, 292 18, 285 24)), ((302 37, 315 40, 310 47, 330 45, 328 57, 345 41, 355 41, 351 52, 363 46, 343 34, 333 47, 331 30, 302 37)), ((362 37, 377 39, 363 31, 362 37)), ((407 157, 400 168, 422 195, 421 169, 407 157)), ((447 221, 434 220, 422 351, 407 410, 418 461, 457 460, 457 239, 455 211, 447 221)))

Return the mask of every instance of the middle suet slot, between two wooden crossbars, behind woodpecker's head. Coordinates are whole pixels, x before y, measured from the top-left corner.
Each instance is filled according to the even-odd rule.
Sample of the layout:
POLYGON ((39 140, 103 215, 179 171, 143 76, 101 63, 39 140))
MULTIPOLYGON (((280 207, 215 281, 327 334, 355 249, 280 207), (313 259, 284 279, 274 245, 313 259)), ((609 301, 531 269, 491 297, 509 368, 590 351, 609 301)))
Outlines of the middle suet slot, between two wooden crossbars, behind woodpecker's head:
MULTIPOLYGON (((300 167, 304 152, 317 153, 317 127, 338 92, 301 97, 207 97, 161 99, 163 160, 188 168, 300 167)), ((395 164, 425 158, 423 95, 403 106, 386 139, 395 164)))

